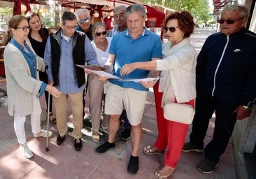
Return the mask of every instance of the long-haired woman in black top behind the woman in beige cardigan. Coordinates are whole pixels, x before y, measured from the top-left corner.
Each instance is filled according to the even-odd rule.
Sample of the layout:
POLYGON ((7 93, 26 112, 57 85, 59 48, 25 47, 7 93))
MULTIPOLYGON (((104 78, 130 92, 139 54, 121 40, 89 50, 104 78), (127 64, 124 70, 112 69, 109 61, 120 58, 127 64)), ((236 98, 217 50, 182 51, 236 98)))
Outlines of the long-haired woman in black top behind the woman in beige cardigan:
MULTIPOLYGON (((45 45, 47 38, 49 36, 48 29, 45 29, 41 25, 40 17, 37 13, 28 12, 25 17, 27 17, 29 21, 29 41, 36 52, 36 55, 43 58, 45 53, 45 45)), ((45 72, 39 71, 39 78, 44 83, 48 83, 48 76, 45 72)), ((50 102, 48 106, 48 95, 50 95, 47 91, 45 91, 45 101, 47 105, 47 109, 49 108, 49 120, 52 124, 56 124, 56 117, 54 117, 52 113, 52 95, 50 95, 50 102)), ((48 115, 47 115, 48 116, 48 115)))

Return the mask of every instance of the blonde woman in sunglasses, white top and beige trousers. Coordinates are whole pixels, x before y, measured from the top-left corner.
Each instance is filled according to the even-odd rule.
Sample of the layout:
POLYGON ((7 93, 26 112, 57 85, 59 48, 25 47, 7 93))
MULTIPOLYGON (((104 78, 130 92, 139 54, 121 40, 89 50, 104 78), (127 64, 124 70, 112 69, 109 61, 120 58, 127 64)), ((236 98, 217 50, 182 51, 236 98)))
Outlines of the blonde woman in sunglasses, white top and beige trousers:
MULTIPOLYGON (((97 54, 97 60, 100 66, 104 66, 108 60, 108 50, 111 45, 111 37, 106 37, 106 24, 96 22, 92 26, 92 35, 94 40, 92 46, 97 54)), ((88 93, 90 96, 90 114, 92 121, 92 141, 99 142, 99 127, 101 120, 102 99, 104 99, 104 83, 98 80, 93 74, 88 75, 88 93)), ((104 116, 104 120, 108 116, 104 116)))

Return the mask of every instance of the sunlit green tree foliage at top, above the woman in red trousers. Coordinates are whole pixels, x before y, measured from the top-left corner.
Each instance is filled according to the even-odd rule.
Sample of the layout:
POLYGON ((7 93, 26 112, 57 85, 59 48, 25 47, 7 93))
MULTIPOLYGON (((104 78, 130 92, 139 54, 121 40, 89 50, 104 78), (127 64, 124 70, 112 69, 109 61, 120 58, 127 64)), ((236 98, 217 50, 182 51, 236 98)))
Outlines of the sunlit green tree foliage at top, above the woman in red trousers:
POLYGON ((196 20, 203 20, 207 22, 211 19, 209 15, 210 8, 208 6, 208 0, 138 0, 141 3, 150 3, 151 5, 159 4, 166 8, 174 10, 187 10, 196 20))

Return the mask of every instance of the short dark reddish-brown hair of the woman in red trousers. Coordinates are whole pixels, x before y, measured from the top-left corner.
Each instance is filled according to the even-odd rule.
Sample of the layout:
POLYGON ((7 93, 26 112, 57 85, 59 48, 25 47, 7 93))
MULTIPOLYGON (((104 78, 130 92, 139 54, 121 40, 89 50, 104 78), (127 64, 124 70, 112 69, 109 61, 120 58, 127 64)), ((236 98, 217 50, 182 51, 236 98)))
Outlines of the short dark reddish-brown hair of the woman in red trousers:
POLYGON ((186 10, 182 12, 175 11, 166 17, 164 20, 164 27, 166 27, 169 20, 173 19, 178 20, 178 28, 181 31, 184 31, 184 38, 190 37, 194 31, 195 25, 192 15, 186 10))

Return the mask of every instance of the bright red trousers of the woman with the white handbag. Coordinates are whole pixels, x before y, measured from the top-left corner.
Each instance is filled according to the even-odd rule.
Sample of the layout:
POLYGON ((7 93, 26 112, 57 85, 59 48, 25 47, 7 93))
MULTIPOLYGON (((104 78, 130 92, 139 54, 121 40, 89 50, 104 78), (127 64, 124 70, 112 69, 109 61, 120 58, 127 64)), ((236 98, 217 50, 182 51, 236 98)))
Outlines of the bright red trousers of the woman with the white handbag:
MULTIPOLYGON (((155 141, 154 146, 160 150, 166 150, 164 165, 176 168, 176 164, 178 163, 180 153, 185 143, 189 125, 173 122, 164 118, 164 109, 161 107, 163 93, 158 92, 158 87, 159 81, 154 86, 158 129, 157 141, 155 141)), ((176 99, 174 102, 177 102, 176 99)), ((186 104, 194 106, 194 99, 186 104)))

